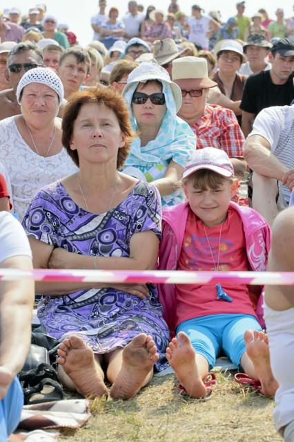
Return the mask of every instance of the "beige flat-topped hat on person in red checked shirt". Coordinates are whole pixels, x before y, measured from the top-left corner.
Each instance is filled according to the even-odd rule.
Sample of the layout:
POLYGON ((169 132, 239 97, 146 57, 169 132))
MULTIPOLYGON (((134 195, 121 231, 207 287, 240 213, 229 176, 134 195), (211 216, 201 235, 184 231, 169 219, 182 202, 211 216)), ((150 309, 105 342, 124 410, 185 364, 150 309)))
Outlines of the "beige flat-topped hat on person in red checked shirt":
POLYGON ((194 80, 195 88, 210 88, 217 86, 216 82, 208 77, 208 67, 205 58, 181 57, 173 60, 173 81, 194 80))

